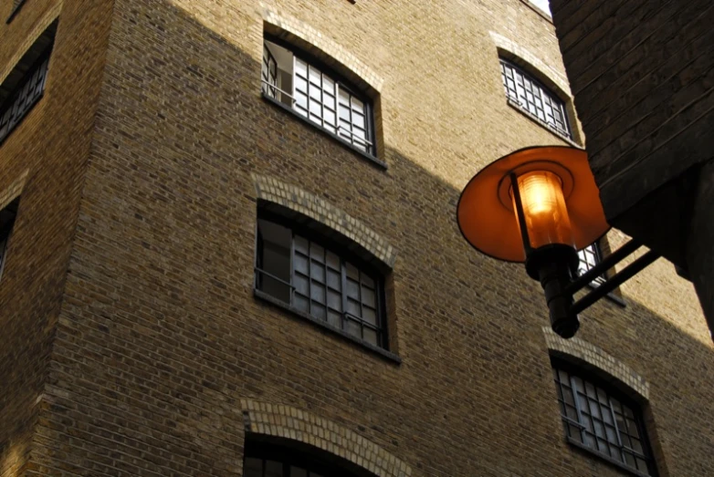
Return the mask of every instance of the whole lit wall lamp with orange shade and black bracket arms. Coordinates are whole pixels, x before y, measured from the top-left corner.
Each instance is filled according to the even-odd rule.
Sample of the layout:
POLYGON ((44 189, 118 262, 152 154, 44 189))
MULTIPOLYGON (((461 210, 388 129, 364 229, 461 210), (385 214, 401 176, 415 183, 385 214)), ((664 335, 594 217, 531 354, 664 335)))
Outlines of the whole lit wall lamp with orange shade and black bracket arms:
POLYGON ((577 302, 573 294, 635 252, 630 241, 582 276, 577 250, 593 244, 610 225, 584 150, 541 146, 511 152, 479 171, 461 192, 457 222, 479 252, 526 264, 539 280, 551 327, 572 337, 578 314, 659 255, 647 252, 577 302))

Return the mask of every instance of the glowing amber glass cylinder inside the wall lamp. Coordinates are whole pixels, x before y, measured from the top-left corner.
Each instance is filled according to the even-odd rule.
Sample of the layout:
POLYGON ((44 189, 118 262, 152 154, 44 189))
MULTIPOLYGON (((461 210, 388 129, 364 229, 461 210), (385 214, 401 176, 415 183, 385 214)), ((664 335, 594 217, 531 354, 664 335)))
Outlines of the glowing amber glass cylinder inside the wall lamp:
MULTIPOLYGON (((530 246, 533 248, 548 244, 572 246, 571 221, 558 176, 550 171, 530 171, 518 176, 517 181, 530 246)), ((515 204, 513 210, 516 210, 515 204)), ((514 218, 518 223, 515 214, 514 218)))

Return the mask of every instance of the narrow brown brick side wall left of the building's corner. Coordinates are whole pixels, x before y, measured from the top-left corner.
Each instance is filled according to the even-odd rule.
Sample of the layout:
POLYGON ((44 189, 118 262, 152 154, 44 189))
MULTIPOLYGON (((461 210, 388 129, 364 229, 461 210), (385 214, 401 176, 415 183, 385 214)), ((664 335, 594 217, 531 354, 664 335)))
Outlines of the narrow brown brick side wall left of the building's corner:
POLYGON ((76 233, 83 171, 100 90, 110 2, 27 0, 8 24, 0 2, 0 79, 58 16, 47 87, 0 146, 0 196, 20 195, 0 282, 0 475, 45 474, 47 358, 76 233), (39 424, 39 426, 37 426, 39 424))

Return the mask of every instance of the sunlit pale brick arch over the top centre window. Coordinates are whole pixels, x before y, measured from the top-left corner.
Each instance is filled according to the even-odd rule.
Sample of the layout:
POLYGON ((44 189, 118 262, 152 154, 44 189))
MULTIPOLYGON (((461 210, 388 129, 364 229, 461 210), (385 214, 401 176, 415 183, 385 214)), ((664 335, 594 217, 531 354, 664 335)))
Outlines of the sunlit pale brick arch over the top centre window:
POLYGON ((262 6, 264 27, 270 35, 283 37, 296 47, 320 57, 329 67, 348 77, 356 86, 373 93, 382 91, 383 78, 347 48, 297 18, 262 6))

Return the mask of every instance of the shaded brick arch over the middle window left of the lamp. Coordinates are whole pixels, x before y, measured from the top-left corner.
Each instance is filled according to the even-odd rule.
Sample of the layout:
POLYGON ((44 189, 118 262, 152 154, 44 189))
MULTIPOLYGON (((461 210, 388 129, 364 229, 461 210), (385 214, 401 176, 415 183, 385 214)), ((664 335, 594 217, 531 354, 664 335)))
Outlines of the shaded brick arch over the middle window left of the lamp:
POLYGON ((253 174, 252 177, 256 184, 257 199, 277 203, 310 217, 348 237, 383 264, 394 268, 396 260, 394 247, 362 222, 295 185, 257 174, 253 174))

